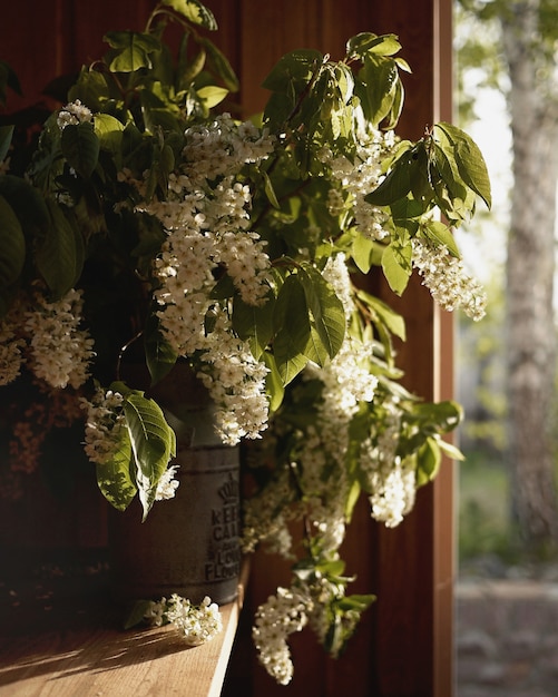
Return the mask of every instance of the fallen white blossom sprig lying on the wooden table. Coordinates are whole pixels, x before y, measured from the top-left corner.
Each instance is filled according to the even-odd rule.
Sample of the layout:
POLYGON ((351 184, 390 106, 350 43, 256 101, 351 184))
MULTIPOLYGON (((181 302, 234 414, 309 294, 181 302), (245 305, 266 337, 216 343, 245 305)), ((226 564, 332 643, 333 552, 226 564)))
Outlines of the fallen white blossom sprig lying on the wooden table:
POLYGON ((155 627, 170 622, 180 631, 188 646, 206 644, 223 630, 219 609, 208 596, 196 606, 173 593, 168 600, 161 598, 157 602, 151 601, 144 618, 155 627))

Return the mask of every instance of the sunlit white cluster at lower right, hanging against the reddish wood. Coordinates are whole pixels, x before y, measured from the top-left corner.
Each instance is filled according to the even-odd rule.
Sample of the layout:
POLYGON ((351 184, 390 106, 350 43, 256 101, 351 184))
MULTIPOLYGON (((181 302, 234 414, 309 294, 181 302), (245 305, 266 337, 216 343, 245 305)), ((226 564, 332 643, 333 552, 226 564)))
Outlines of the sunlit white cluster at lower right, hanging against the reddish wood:
POLYGON ((394 528, 414 505, 417 478, 414 463, 397 455, 400 414, 395 403, 384 402, 385 426, 361 443, 360 468, 366 477, 371 514, 394 528))

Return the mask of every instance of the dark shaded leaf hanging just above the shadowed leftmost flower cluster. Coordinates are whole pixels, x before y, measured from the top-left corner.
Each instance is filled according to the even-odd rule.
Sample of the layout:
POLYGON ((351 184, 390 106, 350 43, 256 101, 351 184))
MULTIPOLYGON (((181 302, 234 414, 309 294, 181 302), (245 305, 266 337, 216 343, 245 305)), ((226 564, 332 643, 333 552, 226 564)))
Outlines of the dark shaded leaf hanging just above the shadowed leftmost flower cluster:
POLYGON ((81 273, 84 257, 79 230, 68 220, 60 206, 47 199, 50 227, 37 247, 37 269, 56 298, 74 287, 81 273))

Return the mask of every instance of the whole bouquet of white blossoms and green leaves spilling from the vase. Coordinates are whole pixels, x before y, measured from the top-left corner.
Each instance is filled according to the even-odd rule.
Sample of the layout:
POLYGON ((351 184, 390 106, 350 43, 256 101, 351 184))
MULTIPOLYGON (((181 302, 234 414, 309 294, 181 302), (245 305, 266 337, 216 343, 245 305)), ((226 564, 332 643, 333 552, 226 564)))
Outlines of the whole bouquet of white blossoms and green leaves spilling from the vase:
POLYGON ((254 628, 286 684, 290 632, 310 624, 336 655, 373 599, 345 593, 339 549, 356 500, 397 526, 442 451, 458 457, 441 435, 459 405, 403 389, 404 323, 366 277, 383 273, 400 295, 414 268, 443 307, 480 318, 484 294, 451 227, 478 197, 490 205, 490 185, 454 126, 397 136, 409 67, 395 36, 358 35, 340 61, 284 56, 264 112, 239 122, 215 28, 198 0, 160 0, 145 31, 107 33, 107 56, 81 70, 27 161, 0 128, 0 384, 32 383, 48 404, 18 415, 11 474, 38 467, 48 423, 81 423, 102 494, 120 510, 138 495, 145 517, 174 495, 175 434, 123 380, 123 356, 141 345, 153 383, 192 365, 223 442, 251 440, 244 549, 293 557, 290 524, 304 521, 293 586, 254 628))

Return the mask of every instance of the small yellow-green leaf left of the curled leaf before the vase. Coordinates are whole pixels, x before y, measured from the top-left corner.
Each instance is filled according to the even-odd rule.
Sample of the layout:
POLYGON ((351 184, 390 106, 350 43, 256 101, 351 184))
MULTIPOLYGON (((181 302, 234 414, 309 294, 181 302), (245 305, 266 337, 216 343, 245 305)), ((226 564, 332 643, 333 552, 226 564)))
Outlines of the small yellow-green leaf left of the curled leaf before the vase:
POLYGON ((126 429, 120 429, 110 459, 96 465, 97 484, 102 495, 119 511, 125 511, 137 493, 130 473, 130 438, 126 429))

